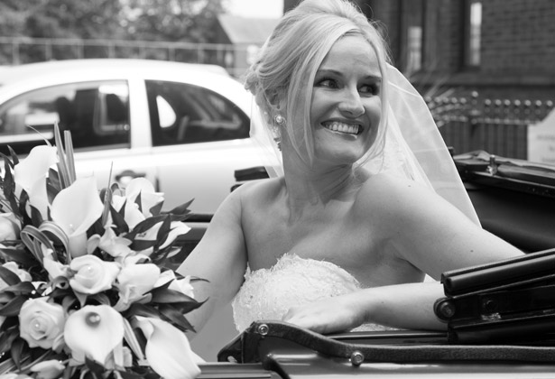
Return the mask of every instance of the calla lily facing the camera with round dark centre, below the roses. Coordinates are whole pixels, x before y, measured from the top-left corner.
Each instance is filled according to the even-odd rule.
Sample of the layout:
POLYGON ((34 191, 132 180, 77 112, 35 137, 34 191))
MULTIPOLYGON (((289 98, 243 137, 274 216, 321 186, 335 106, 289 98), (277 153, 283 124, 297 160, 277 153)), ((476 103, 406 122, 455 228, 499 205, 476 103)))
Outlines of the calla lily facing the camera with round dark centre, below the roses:
POLYGON ((87 305, 69 315, 64 337, 76 359, 88 356, 104 365, 106 357, 122 342, 124 320, 108 305, 87 305))

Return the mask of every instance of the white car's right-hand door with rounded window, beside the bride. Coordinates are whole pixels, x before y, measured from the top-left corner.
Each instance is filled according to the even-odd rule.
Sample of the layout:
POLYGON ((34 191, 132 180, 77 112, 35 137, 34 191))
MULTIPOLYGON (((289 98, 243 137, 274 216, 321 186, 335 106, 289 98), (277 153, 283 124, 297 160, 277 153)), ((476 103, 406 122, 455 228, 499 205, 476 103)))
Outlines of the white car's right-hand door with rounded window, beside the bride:
POLYGON ((145 86, 161 190, 169 204, 194 199, 193 212, 213 214, 235 171, 261 165, 250 118, 232 99, 199 85, 146 80, 145 86))

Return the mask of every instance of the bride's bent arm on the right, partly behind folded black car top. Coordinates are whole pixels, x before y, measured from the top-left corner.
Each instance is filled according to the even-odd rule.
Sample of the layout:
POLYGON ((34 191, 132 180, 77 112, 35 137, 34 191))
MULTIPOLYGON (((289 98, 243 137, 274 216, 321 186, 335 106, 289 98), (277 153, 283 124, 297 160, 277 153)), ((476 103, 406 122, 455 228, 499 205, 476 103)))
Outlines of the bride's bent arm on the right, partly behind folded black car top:
MULTIPOLYGON (((471 222, 429 189, 381 176, 362 199, 382 254, 393 254, 439 279, 441 273, 523 254, 471 222), (390 181, 391 180, 391 181, 390 181), (369 196, 370 194, 374 196, 369 196)), ((444 296, 439 282, 374 287, 295 307, 284 321, 331 333, 378 323, 393 328, 445 329, 434 314, 444 296)))

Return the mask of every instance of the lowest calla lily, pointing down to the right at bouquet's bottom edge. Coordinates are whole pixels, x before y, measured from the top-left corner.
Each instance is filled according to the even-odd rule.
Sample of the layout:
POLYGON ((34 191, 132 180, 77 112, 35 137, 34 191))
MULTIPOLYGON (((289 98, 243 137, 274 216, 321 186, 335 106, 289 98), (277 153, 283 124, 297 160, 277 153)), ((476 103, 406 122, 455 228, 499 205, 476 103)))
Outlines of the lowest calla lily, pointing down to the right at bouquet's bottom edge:
POLYGON ((200 374, 202 359, 190 349, 180 329, 162 319, 137 316, 137 326, 147 339, 144 354, 153 370, 164 379, 187 379, 200 374))

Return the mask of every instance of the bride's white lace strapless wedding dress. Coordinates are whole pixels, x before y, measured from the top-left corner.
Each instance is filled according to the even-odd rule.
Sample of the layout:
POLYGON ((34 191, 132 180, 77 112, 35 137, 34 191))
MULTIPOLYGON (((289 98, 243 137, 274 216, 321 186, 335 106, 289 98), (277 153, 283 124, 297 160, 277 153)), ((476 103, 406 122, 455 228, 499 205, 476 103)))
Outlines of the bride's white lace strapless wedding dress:
MULTIPOLYGON (((361 289, 353 275, 337 264, 284 254, 270 269, 251 271, 232 302, 237 330, 253 321, 281 320, 291 307, 361 289)), ((365 324, 354 330, 389 330, 365 324)))

